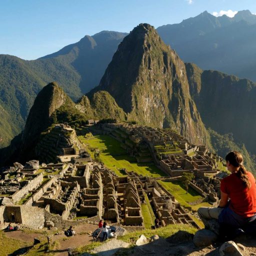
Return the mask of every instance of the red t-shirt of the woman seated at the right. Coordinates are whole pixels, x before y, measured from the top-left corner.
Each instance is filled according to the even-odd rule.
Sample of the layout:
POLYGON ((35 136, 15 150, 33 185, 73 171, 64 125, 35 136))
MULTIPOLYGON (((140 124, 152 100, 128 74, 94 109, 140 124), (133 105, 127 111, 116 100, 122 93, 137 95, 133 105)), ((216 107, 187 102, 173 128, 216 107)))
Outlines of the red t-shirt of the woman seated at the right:
POLYGON ((220 182, 220 190, 230 198, 229 207, 243 217, 251 217, 256 213, 255 178, 249 171, 247 175, 251 183, 250 189, 245 187, 236 173, 224 177, 220 182))

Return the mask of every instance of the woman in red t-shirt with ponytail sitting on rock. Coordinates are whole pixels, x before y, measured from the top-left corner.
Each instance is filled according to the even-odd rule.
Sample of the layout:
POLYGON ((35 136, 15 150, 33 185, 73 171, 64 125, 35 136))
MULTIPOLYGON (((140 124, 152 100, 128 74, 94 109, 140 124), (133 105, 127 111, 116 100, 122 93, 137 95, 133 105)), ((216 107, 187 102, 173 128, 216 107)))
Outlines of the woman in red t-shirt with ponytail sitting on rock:
POLYGON ((231 151, 225 159, 231 173, 220 181, 218 207, 200 207, 197 213, 206 228, 228 240, 242 232, 256 232, 256 184, 239 152, 231 151))

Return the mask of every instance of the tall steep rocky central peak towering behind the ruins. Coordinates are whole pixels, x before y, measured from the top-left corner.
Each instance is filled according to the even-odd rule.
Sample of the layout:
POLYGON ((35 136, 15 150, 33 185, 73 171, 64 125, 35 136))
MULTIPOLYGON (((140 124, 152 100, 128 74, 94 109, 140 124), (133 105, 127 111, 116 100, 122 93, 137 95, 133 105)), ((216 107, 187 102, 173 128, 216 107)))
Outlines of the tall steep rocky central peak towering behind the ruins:
POLYGON ((100 90, 113 96, 128 120, 176 129, 194 143, 207 140, 189 94, 185 65, 149 24, 139 24, 124 37, 88 96, 100 90))

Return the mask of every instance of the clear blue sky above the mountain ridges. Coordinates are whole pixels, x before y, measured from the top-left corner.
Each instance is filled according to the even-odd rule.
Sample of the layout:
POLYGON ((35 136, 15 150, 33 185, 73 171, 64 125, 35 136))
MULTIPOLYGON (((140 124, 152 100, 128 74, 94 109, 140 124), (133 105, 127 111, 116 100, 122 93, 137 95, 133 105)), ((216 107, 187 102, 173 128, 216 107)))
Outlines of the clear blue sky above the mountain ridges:
POLYGON ((36 59, 102 30, 180 23, 207 10, 256 13, 256 0, 0 0, 0 54, 36 59))

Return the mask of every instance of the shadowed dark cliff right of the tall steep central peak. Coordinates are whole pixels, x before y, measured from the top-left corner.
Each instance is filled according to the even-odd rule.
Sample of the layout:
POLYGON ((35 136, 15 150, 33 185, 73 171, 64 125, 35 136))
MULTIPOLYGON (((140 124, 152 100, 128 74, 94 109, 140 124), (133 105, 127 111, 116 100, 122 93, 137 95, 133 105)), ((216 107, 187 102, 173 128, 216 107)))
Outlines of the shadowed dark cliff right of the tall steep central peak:
POLYGON ((220 134, 233 134, 255 154, 256 83, 186 63, 190 93, 203 123, 220 134))

